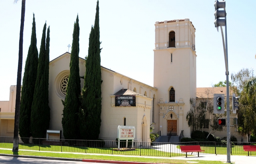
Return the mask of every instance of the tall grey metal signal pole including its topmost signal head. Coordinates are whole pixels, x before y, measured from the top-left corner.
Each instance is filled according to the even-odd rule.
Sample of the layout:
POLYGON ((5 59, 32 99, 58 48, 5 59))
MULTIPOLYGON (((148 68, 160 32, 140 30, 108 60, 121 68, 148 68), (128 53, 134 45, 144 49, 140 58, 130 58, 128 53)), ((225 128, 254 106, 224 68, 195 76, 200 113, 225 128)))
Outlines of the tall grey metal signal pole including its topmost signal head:
POLYGON ((222 34, 222 42, 223 42, 223 50, 224 50, 224 58, 225 58, 225 66, 226 66, 226 81, 227 81, 227 163, 231 163, 230 162, 230 108, 229 108, 229 80, 228 80, 228 37, 227 37, 227 23, 226 23, 226 2, 223 0, 221 2, 219 2, 218 0, 215 1, 214 3, 214 7, 215 7, 215 27, 218 28, 220 26, 220 30, 221 30, 221 34, 222 34), (223 8, 223 10, 219 10, 223 8), (224 19, 220 19, 220 18, 224 18, 224 19), (222 26, 225 26, 225 40, 226 40, 226 44, 225 44, 225 40, 224 40, 224 35, 223 35, 223 30, 222 30, 222 26))

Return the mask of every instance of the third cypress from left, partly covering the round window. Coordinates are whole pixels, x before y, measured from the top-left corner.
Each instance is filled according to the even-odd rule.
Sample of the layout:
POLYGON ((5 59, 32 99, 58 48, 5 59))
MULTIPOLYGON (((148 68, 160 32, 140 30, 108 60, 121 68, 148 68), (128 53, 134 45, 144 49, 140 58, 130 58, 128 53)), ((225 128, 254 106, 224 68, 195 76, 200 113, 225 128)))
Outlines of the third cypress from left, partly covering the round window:
POLYGON ((79 75, 79 23, 78 15, 74 23, 73 42, 70 60, 70 75, 64 105, 62 127, 65 139, 79 139, 78 112, 80 107, 80 75, 79 75))

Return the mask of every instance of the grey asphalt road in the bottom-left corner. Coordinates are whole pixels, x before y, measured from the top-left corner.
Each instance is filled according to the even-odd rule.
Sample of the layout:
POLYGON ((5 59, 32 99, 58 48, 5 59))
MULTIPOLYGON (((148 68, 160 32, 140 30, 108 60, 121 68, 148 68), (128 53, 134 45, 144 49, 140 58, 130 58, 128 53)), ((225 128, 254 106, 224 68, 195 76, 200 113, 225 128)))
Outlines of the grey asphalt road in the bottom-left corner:
POLYGON ((1 164, 102 164, 102 163, 91 163, 81 161, 70 161, 70 160, 45 160, 35 158, 17 158, 0 156, 1 164))

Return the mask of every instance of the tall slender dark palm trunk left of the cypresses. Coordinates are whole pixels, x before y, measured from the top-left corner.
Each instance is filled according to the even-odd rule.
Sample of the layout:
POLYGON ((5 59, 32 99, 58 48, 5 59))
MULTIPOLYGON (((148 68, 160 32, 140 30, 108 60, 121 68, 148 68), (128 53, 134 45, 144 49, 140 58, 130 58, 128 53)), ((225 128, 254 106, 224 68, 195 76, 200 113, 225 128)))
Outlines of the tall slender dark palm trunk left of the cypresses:
MULTIPOLYGON (((14 0, 14 3, 18 0, 14 0)), ((25 20, 25 3, 21 3, 21 20, 20 20, 20 41, 19 41, 19 59, 17 72, 17 87, 16 87, 16 102, 15 102, 15 117, 14 117, 14 136, 13 136, 13 152, 19 151, 19 121, 20 121, 20 91, 21 91, 21 73, 22 73, 22 55, 23 55, 23 30, 25 20)))

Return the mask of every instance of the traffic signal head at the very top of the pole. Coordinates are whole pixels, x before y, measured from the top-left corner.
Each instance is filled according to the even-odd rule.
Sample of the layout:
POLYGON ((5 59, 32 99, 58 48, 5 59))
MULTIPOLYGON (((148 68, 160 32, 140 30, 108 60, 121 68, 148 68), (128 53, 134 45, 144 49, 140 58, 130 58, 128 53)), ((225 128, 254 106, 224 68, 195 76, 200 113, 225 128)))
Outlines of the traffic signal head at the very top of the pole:
POLYGON ((215 27, 218 28, 219 26, 226 26, 226 19, 219 19, 219 18, 225 18, 226 16, 226 11, 225 10, 219 10, 220 8, 225 8, 226 7, 226 2, 225 1, 218 1, 216 0, 214 2, 214 7, 215 7, 215 27))

